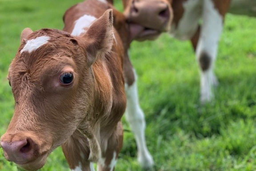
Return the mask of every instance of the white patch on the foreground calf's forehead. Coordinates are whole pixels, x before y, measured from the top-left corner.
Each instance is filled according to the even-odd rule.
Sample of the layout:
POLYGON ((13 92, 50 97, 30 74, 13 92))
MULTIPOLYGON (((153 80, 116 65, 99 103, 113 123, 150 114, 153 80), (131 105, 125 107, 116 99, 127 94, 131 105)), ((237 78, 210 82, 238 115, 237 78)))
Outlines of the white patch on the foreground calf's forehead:
POLYGON ((28 40, 24 48, 20 51, 20 54, 26 51, 28 51, 28 53, 35 51, 36 49, 40 48, 44 44, 47 44, 49 39, 50 39, 49 36, 40 36, 40 37, 36 37, 36 39, 28 40))

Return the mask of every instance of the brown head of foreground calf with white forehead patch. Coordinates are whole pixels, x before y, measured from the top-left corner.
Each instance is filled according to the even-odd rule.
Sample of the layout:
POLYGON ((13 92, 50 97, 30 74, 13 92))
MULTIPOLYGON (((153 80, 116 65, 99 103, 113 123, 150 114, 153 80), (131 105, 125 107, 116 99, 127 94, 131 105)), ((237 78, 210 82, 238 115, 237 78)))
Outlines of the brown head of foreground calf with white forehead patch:
POLYGON ((111 50, 112 39, 111 10, 79 37, 24 29, 8 72, 15 109, 0 141, 7 160, 37 170, 82 121, 93 118, 92 64, 111 50))

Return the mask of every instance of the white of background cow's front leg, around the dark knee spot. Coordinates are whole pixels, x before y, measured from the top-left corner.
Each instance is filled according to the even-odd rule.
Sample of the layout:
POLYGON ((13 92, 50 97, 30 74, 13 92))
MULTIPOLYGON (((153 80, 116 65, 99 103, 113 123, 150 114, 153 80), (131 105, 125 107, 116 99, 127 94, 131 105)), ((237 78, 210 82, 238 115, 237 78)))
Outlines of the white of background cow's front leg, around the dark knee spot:
POLYGON ((210 66, 207 71, 203 72, 200 70, 200 98, 202 103, 210 101, 213 98, 212 86, 218 84, 216 76, 213 73, 213 67, 222 29, 223 17, 215 9, 212 0, 204 0, 203 24, 196 48, 196 59, 199 62, 200 55, 205 52, 210 57, 210 66))

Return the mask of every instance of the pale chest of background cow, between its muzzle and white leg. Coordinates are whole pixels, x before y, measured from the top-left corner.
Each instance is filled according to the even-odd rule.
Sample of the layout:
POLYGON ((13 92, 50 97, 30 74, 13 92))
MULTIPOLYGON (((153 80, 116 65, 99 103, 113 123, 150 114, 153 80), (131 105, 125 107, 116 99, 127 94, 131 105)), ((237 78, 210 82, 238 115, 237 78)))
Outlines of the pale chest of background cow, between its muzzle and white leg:
POLYGON ((184 2, 184 13, 178 25, 172 23, 170 34, 179 40, 189 40, 196 32, 202 16, 202 0, 184 2))

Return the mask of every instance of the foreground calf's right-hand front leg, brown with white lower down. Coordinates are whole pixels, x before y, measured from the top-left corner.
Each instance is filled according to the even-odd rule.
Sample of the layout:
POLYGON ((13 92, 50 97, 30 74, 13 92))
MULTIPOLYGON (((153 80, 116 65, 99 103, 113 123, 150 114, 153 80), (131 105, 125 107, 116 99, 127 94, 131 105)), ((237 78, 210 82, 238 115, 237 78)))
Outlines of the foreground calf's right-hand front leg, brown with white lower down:
POLYGON ((120 153, 123 145, 123 127, 120 121, 117 126, 113 128, 113 131, 108 130, 107 128, 102 129, 103 132, 105 130, 108 132, 100 134, 102 138, 102 154, 98 161, 97 171, 114 171, 118 154, 120 153), (108 136, 109 138, 107 138, 108 136))

